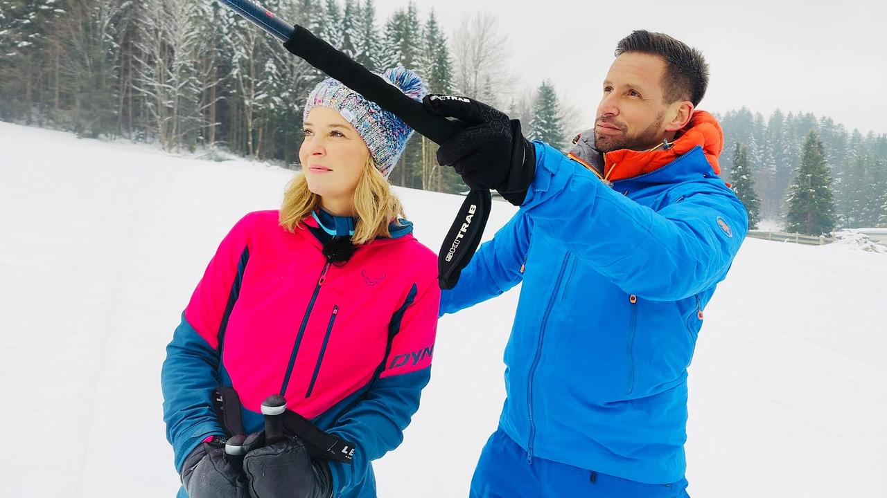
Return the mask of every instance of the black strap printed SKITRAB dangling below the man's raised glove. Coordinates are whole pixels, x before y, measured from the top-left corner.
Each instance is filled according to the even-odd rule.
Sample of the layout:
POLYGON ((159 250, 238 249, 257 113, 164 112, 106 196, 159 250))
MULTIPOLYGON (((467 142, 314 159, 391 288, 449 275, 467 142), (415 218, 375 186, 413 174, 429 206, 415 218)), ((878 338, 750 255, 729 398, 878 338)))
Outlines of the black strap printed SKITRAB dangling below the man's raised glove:
POLYGON ((443 245, 437 256, 437 280, 441 289, 452 289, 459 282, 462 268, 471 261, 477 246, 481 244, 491 206, 490 191, 468 192, 450 231, 443 238, 443 245))

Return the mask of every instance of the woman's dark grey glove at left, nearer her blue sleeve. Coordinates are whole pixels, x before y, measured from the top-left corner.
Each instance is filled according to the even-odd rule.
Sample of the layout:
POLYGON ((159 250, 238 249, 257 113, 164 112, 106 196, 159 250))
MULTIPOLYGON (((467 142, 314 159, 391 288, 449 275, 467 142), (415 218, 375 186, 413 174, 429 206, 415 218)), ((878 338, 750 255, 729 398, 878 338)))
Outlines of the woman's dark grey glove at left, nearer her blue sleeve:
POLYGON ((200 443, 182 465, 182 486, 189 498, 247 498, 241 463, 225 455, 224 438, 200 443))

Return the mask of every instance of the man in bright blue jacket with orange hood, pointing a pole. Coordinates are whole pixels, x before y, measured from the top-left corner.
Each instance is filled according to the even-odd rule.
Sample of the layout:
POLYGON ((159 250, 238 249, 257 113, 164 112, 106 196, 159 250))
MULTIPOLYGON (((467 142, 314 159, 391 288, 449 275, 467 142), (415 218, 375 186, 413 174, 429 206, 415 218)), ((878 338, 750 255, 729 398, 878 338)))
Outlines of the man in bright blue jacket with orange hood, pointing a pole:
POLYGON ((441 303, 452 313, 522 283, 471 496, 687 496, 687 366, 748 228, 718 178, 720 126, 695 109, 707 83, 699 51, 635 31, 569 156, 489 106, 426 97, 470 125, 441 164, 521 206, 441 303))

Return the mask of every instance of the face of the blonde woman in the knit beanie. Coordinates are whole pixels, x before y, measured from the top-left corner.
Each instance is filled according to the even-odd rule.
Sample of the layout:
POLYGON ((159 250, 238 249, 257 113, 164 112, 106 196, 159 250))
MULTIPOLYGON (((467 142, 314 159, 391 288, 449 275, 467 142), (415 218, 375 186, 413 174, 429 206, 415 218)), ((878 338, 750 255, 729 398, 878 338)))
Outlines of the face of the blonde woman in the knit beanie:
POLYGON ((299 160, 309 190, 322 198, 327 211, 351 214, 351 199, 370 150, 357 129, 329 107, 311 109, 304 127, 299 160))

